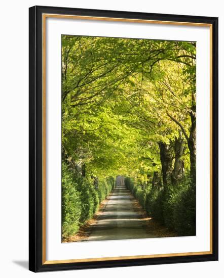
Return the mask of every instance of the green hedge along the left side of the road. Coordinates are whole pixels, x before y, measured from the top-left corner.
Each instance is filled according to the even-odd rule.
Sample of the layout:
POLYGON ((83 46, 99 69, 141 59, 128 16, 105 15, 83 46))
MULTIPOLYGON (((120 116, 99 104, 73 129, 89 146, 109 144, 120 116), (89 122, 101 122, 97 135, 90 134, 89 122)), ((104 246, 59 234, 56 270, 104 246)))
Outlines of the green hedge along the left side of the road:
POLYGON ((77 175, 62 162, 62 238, 75 235, 97 211, 99 204, 115 186, 115 179, 99 180, 97 187, 89 177, 77 175))

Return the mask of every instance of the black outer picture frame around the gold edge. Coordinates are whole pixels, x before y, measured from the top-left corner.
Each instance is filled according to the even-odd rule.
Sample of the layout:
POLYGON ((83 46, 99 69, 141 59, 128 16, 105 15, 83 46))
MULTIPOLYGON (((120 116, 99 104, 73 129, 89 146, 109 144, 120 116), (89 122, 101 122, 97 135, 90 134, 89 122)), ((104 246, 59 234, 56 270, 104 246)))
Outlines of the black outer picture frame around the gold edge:
POLYGON ((218 18, 60 7, 29 8, 29 270, 34 272, 218 260, 218 18), (185 256, 44 263, 43 14, 209 24, 212 28, 212 252, 185 256))

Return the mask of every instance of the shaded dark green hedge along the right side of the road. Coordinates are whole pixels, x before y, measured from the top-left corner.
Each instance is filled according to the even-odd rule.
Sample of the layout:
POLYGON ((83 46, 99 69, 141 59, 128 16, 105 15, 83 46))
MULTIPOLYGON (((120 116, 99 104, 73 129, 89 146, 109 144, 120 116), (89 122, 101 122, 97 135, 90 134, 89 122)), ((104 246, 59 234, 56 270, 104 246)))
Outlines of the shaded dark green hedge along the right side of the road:
POLYGON ((189 177, 183 178, 176 187, 168 184, 165 190, 152 186, 142 190, 130 177, 125 178, 125 185, 148 216, 175 230, 179 236, 196 235, 196 194, 189 177))

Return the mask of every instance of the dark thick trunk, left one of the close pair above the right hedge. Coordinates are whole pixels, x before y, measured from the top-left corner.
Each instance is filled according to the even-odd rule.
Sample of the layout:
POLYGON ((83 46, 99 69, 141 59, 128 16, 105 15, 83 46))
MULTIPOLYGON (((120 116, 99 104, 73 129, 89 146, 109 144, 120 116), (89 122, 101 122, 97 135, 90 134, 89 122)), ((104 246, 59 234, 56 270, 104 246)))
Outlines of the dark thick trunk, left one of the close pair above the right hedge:
POLYGON ((163 142, 159 143, 160 160, 162 165, 163 186, 166 187, 172 171, 171 147, 163 142))

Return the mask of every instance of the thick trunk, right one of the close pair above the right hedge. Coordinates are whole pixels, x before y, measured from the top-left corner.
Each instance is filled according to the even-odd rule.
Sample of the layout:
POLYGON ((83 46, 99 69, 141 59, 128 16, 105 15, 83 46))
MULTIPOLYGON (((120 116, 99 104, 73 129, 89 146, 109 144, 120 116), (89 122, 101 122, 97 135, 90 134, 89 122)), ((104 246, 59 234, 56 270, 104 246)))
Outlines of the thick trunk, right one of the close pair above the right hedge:
POLYGON ((179 138, 175 138, 174 152, 175 152, 175 162, 174 168, 171 175, 172 184, 177 184, 178 180, 182 177, 184 173, 184 162, 181 159, 183 155, 183 138, 181 137, 181 132, 179 138))

